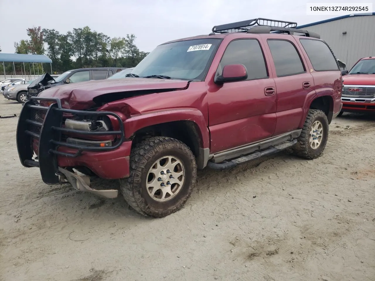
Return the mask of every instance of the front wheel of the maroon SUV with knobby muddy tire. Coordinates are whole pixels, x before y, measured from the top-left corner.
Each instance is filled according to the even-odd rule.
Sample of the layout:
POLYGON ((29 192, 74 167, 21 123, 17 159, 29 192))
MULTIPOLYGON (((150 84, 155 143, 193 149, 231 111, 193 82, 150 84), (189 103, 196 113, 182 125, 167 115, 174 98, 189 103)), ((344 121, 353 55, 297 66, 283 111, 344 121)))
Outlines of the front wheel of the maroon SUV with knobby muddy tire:
POLYGON ((196 183, 195 157, 184 143, 167 137, 139 142, 130 154, 130 176, 120 179, 127 203, 147 217, 182 208, 196 183))

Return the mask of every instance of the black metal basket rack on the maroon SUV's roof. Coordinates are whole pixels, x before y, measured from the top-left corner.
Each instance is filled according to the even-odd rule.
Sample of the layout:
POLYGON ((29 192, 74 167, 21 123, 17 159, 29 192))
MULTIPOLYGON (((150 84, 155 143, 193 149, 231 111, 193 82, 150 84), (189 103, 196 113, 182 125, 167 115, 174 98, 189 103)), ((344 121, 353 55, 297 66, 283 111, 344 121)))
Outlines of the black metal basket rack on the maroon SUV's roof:
POLYGON ((256 18, 247 21, 232 22, 229 24, 215 25, 212 28, 212 33, 231 33, 231 32, 246 32, 246 33, 287 33, 293 35, 296 33, 303 33, 307 37, 320 38, 319 34, 309 32, 307 30, 296 29, 297 22, 279 21, 276 19, 256 18))

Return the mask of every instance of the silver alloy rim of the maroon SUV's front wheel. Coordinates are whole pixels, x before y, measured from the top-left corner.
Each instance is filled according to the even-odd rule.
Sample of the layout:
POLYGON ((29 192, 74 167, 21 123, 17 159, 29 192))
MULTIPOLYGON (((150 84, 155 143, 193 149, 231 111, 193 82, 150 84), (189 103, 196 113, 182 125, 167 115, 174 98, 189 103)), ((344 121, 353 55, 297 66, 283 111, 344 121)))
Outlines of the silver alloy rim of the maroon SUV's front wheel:
POLYGON ((146 188, 148 195, 158 202, 174 198, 185 181, 185 167, 174 156, 159 158, 148 170, 146 188))

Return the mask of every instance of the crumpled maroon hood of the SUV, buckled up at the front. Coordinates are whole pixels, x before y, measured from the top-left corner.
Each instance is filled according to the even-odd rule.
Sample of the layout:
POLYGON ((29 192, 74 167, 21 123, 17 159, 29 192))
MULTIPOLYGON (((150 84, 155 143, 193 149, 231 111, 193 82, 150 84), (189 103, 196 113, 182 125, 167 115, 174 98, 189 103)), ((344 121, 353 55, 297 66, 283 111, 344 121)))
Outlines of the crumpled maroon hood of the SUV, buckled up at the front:
POLYGON ((63 108, 84 110, 101 106, 114 100, 163 91, 183 90, 186 80, 159 78, 122 78, 91 80, 42 91, 38 97, 55 97, 61 100, 63 108))

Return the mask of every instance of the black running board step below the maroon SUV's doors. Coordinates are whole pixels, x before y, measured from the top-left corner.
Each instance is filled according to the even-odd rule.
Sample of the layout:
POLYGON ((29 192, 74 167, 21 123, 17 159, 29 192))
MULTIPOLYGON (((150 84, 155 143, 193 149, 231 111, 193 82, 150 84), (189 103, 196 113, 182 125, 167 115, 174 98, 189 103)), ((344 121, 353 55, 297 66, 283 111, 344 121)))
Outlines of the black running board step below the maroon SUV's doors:
POLYGON ((213 163, 211 161, 208 161, 207 167, 209 167, 211 169, 214 169, 214 170, 225 170, 225 169, 233 168, 233 167, 236 167, 237 164, 244 163, 244 162, 247 162, 247 161, 251 161, 251 160, 263 157, 263 156, 275 154, 279 151, 290 148, 291 146, 295 145, 296 143, 297 143, 297 140, 293 139, 291 141, 286 141, 286 142, 280 143, 279 145, 272 146, 272 147, 270 147, 266 150, 254 152, 252 154, 233 159, 229 162, 213 163))

